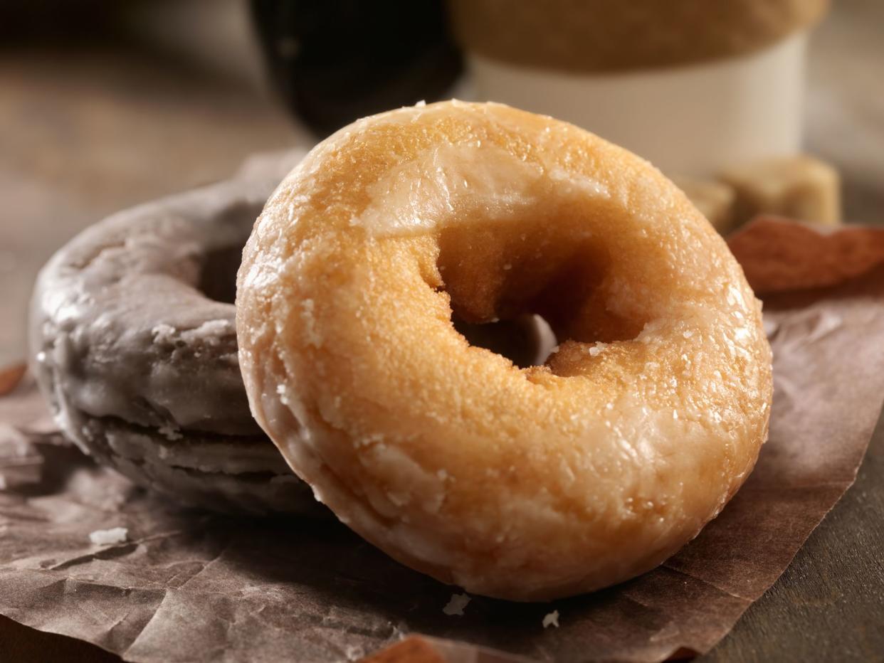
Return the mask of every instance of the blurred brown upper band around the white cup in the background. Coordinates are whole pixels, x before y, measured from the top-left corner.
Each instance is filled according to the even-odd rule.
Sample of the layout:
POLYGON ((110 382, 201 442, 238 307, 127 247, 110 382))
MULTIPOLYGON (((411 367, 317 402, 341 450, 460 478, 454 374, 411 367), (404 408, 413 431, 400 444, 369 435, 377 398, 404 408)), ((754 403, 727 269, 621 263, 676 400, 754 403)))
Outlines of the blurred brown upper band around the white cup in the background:
POLYGON ((613 72, 764 49, 818 21, 828 0, 450 0, 466 49, 513 65, 613 72))

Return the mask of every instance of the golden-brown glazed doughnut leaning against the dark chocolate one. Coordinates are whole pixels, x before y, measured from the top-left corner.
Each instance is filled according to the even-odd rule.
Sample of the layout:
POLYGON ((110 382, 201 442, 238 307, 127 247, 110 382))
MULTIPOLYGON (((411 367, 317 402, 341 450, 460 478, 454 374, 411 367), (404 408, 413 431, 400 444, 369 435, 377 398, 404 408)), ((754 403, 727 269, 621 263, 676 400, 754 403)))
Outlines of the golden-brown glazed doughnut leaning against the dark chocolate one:
POLYGON ((733 255, 650 164, 552 118, 450 102, 345 127, 271 196, 237 285, 264 431, 342 522, 467 591, 653 568, 766 439, 733 255), (529 313, 559 346, 528 368, 453 324, 529 313))

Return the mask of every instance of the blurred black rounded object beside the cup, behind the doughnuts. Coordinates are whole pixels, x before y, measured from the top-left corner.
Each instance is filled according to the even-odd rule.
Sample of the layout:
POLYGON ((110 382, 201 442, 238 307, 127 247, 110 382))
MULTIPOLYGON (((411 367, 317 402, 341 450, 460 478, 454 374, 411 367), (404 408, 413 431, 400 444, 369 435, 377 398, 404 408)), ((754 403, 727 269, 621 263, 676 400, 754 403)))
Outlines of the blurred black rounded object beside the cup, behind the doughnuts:
POLYGON ((461 72, 441 0, 252 0, 274 85, 322 135, 446 95, 461 72))

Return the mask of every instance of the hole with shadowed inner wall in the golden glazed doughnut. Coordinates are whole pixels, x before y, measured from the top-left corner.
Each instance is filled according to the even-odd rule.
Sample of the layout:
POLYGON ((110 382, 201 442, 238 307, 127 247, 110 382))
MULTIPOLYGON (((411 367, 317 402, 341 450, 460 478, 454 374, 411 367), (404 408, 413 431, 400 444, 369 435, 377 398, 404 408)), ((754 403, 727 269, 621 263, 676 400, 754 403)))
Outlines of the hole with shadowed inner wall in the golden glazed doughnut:
POLYGON ((557 344, 635 339, 651 317, 612 310, 612 257, 576 219, 451 225, 438 248, 455 330, 520 368, 543 363, 557 344))

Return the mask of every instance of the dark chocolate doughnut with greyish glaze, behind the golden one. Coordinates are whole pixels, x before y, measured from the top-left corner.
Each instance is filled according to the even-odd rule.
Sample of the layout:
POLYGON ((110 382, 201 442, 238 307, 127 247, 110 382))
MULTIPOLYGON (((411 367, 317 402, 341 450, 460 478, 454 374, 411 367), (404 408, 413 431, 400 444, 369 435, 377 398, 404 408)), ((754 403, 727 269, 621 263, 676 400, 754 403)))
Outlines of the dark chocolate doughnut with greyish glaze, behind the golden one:
POLYGON ((31 363, 65 436, 135 483, 216 510, 310 510, 249 413, 237 360, 240 251, 281 177, 260 170, 61 248, 34 292, 31 363))

